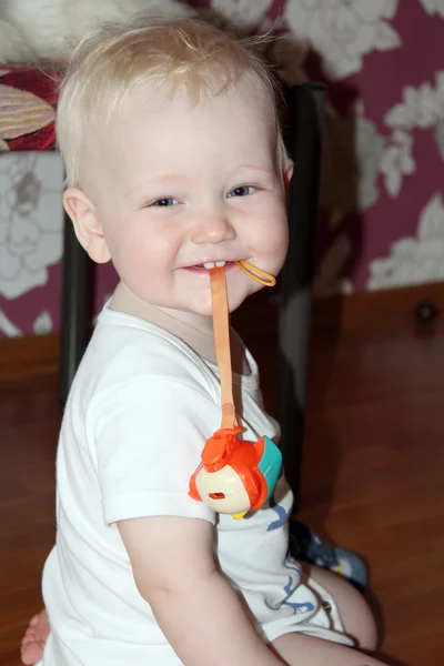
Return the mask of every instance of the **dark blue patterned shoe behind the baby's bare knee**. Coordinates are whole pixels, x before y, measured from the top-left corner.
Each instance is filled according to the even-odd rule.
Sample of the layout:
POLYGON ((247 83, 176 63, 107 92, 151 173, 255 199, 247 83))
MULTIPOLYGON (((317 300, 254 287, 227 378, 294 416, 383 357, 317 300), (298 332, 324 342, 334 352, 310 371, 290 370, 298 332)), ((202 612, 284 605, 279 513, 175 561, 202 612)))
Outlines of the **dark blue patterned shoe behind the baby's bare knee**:
POLYGON ((322 541, 310 527, 299 521, 290 521, 290 553, 295 559, 309 562, 344 576, 357 589, 364 592, 369 573, 364 561, 345 548, 336 548, 322 541))

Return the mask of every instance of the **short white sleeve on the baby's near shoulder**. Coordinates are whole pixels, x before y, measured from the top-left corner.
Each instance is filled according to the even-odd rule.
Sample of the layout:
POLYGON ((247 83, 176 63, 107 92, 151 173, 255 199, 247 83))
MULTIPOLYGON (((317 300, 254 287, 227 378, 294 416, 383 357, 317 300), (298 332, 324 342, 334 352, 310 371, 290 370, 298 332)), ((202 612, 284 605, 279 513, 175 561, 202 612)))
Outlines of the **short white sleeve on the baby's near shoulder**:
POLYGON ((204 443, 220 427, 220 407, 172 380, 137 380, 95 405, 92 451, 108 524, 174 515, 215 523, 188 494, 204 443))

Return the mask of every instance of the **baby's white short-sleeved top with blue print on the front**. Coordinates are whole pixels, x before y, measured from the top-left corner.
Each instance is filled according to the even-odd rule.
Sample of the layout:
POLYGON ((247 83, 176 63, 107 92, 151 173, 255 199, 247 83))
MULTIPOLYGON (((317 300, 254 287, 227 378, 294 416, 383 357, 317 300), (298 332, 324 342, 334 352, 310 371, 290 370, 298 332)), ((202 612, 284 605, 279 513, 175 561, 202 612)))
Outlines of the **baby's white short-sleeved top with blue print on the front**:
MULTIPOLYGON (((246 440, 276 440, 262 407, 256 365, 234 375, 246 440)), ((181 664, 139 594, 115 522, 142 516, 204 518, 215 525, 216 557, 250 606, 264 640, 302 630, 350 644, 319 586, 301 583, 287 558, 292 494, 248 518, 216 515, 192 500, 189 480, 220 427, 215 365, 162 329, 107 306, 67 403, 57 461, 57 545, 43 573, 52 633, 44 666, 181 664)), ((176 554, 181 566, 180 553, 176 554)), ((334 604, 334 603, 333 603, 334 604)))

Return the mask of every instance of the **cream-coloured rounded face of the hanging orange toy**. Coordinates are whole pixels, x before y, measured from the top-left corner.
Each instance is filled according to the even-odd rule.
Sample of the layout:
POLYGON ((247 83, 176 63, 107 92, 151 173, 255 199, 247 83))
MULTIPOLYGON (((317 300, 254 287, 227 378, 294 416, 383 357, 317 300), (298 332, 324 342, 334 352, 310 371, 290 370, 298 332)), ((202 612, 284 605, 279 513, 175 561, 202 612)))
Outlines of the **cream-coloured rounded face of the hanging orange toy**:
POLYGON ((202 502, 218 513, 244 514, 251 508, 242 480, 230 465, 211 473, 202 468, 195 477, 195 486, 202 502))

